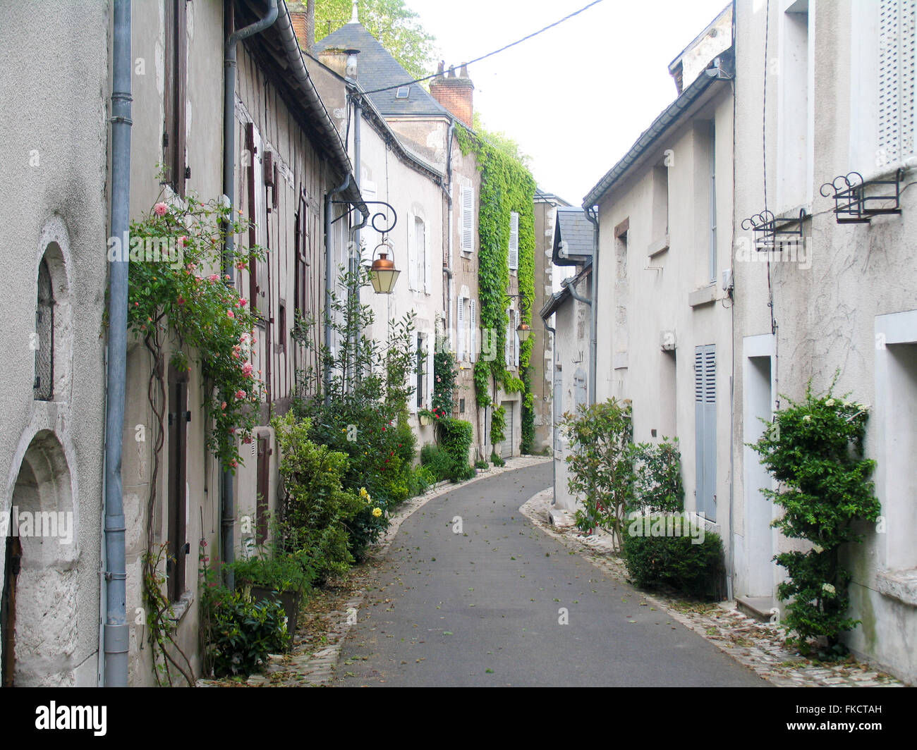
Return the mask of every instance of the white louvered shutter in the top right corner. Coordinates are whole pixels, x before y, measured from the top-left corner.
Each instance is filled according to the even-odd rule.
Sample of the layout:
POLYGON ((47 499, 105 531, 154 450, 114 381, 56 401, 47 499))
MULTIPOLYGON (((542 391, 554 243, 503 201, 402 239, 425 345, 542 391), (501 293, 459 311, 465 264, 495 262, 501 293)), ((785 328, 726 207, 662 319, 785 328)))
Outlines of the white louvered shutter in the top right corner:
POLYGON ((878 8, 878 148, 886 163, 914 151, 914 0, 878 8))

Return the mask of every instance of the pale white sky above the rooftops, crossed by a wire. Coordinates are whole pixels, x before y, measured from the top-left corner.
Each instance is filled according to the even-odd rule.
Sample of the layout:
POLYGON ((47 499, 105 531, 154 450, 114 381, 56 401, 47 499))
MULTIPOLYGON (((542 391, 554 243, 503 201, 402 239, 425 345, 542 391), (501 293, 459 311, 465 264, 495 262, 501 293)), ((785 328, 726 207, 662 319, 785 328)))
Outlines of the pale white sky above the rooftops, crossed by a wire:
MULTIPOLYGON (((405 0, 446 66, 546 27, 589 0, 405 0)), ((603 0, 469 68, 484 126, 515 138, 538 186, 573 205, 668 104, 668 63, 727 0, 603 0)))

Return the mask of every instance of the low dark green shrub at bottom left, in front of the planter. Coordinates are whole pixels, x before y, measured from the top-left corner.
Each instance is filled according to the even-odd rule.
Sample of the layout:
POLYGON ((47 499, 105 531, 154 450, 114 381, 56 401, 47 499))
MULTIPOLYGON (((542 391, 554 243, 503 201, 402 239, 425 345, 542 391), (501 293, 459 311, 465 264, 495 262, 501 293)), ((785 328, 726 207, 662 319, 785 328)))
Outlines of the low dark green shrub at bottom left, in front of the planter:
POLYGON ((203 606, 209 623, 206 662, 216 677, 249 675, 289 643, 279 602, 247 601, 240 591, 206 587, 203 606))

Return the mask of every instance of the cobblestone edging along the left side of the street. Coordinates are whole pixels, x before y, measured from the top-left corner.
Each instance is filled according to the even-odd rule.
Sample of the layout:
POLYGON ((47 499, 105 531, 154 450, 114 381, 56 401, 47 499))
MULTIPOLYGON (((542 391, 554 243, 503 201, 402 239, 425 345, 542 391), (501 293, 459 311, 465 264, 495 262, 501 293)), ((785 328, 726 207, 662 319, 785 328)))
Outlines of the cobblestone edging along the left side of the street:
MULTIPOLYGON (((507 458, 506 466, 492 467, 491 469, 478 469, 477 475, 467 481, 453 484, 448 481, 437 482, 431 489, 422 495, 410 498, 404 501, 389 522, 389 528, 379 540, 370 547, 367 554, 368 560, 380 559, 392 545, 392 540, 398 533, 401 524, 408 519, 412 513, 424 507, 427 502, 445 495, 447 492, 465 487, 473 482, 492 477, 496 474, 502 474, 505 471, 514 469, 525 469, 529 466, 545 463, 551 460, 542 456, 520 456, 516 458, 507 458)), ((271 688, 293 688, 293 687, 326 687, 334 679, 335 668, 340 657, 341 644, 345 636, 353 627, 356 617, 359 616, 359 607, 366 598, 366 586, 369 585, 369 578, 364 577, 359 580, 358 589, 348 601, 340 602, 340 606, 332 611, 322 615, 322 619, 330 625, 326 633, 326 644, 318 651, 313 651, 309 645, 300 641, 293 645, 290 654, 271 654, 269 656, 268 666, 263 675, 249 676, 246 684, 252 687, 271 687, 271 688)), ((221 683, 218 680, 199 679, 197 687, 216 687, 221 683)))

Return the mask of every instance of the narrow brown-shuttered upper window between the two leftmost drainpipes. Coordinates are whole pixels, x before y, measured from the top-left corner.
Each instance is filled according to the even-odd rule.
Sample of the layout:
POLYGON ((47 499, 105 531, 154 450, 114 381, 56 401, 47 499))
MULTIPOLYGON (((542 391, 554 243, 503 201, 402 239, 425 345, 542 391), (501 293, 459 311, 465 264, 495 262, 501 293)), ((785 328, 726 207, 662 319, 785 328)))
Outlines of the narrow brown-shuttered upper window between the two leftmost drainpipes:
POLYGON ((184 197, 185 89, 188 78, 185 0, 167 0, 165 17, 165 123, 162 128, 166 181, 184 197))

